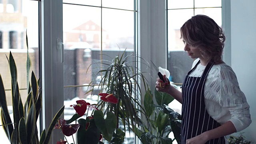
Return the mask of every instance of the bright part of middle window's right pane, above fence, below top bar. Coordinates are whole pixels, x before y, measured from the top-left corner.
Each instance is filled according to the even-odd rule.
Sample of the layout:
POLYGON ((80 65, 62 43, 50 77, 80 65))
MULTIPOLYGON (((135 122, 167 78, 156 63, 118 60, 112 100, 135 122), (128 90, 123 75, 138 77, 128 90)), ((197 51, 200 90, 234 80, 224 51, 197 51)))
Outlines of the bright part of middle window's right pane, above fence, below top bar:
POLYGON ((134 50, 134 12, 102 9, 102 49, 134 50))

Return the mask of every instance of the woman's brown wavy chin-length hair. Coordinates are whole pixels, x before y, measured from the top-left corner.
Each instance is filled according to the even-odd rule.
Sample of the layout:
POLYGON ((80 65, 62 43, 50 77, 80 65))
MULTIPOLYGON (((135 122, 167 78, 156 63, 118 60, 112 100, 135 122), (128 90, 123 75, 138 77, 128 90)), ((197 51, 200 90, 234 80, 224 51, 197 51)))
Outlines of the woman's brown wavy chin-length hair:
POLYGON ((180 34, 180 38, 198 48, 207 61, 217 62, 221 59, 226 38, 222 28, 212 18, 192 16, 180 28, 180 34))

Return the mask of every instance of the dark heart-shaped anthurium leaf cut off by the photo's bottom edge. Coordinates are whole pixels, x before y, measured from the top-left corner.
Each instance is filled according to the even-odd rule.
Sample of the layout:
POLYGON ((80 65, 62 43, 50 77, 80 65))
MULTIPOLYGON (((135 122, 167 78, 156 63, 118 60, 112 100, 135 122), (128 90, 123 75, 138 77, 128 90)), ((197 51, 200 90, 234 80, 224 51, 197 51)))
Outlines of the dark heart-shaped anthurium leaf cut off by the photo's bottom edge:
POLYGON ((87 121, 83 118, 78 120, 80 127, 77 130, 78 144, 98 144, 100 139, 100 130, 97 128, 94 118, 90 120, 90 125, 86 128, 87 121))

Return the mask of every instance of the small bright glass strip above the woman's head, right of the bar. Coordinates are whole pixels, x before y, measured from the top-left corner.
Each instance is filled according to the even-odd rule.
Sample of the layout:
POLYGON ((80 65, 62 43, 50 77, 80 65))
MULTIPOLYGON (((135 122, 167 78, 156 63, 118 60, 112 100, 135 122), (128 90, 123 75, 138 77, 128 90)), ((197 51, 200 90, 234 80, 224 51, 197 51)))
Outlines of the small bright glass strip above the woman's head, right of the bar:
POLYGON ((222 0, 194 0, 194 1, 195 1, 195 8, 222 6, 222 0))

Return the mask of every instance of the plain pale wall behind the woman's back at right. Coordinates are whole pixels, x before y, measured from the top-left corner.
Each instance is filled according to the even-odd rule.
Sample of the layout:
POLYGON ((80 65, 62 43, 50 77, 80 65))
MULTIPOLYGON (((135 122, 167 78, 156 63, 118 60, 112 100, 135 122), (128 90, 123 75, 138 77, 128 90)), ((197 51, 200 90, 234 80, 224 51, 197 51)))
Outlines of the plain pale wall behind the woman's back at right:
POLYGON ((224 52, 224 60, 231 62, 250 105, 252 124, 242 132, 256 142, 256 0, 230 0, 230 14, 231 52, 224 52))

